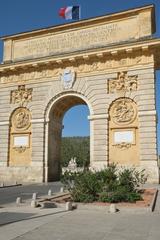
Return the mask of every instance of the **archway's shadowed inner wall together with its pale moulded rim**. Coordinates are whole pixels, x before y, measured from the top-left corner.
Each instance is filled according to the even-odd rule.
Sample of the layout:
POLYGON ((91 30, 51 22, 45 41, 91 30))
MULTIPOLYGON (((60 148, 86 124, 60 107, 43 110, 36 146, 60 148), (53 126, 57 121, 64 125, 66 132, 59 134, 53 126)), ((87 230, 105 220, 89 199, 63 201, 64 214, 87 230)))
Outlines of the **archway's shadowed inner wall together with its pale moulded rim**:
POLYGON ((70 108, 76 105, 87 105, 89 107, 87 100, 75 93, 68 93, 54 98, 48 107, 46 114, 48 123, 46 127, 45 181, 59 180, 63 117, 70 108))

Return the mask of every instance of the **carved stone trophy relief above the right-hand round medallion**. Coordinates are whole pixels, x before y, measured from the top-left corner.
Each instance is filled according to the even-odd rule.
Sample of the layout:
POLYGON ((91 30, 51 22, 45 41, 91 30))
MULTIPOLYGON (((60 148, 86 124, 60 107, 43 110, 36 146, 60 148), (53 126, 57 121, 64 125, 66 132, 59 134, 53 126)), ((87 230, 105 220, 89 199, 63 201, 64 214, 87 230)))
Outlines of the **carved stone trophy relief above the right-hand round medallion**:
POLYGON ((118 73, 117 79, 108 81, 108 92, 131 92, 137 90, 137 76, 128 76, 124 72, 118 73))

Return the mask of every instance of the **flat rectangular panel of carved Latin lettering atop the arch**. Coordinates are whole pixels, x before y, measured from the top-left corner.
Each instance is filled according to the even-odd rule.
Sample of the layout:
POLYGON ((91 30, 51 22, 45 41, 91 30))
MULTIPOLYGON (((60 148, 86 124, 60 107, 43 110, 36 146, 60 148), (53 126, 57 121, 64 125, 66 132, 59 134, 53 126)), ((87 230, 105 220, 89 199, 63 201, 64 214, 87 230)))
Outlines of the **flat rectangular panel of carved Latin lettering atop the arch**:
POLYGON ((13 60, 87 50, 138 37, 137 18, 28 40, 13 45, 13 60), (132 26, 132 27, 130 27, 132 26), (127 29, 127 31, 126 31, 127 29))

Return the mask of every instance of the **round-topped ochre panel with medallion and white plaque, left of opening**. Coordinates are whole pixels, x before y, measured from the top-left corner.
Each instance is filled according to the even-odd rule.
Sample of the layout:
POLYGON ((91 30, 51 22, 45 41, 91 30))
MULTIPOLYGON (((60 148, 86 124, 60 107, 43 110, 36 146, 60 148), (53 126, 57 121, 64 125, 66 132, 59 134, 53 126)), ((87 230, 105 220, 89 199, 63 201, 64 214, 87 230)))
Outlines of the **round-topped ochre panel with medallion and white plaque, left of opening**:
POLYGON ((17 108, 11 117, 9 166, 27 166, 31 163, 31 113, 17 108))

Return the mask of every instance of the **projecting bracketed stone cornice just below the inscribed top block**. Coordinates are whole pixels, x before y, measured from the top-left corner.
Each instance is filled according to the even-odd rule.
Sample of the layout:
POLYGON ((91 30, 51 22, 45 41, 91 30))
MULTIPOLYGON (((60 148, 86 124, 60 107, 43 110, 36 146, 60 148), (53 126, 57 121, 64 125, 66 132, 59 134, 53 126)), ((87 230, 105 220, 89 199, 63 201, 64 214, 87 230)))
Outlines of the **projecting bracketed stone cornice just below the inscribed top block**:
POLYGON ((103 58, 111 58, 116 56, 121 56, 127 54, 131 56, 136 52, 145 54, 145 53, 154 53, 155 49, 160 48, 160 39, 149 39, 143 41, 136 41, 130 43, 124 43, 121 45, 112 45, 105 48, 100 48, 97 50, 90 50, 88 52, 81 51, 80 53, 76 52, 74 54, 64 54, 52 57, 45 58, 37 58, 34 60, 25 60, 18 62, 8 62, 0 65, 0 74, 6 72, 14 72, 17 70, 27 71, 28 68, 37 68, 44 67, 49 65, 56 65, 55 67, 59 67, 64 63, 73 64, 78 61, 87 61, 92 59, 103 59, 103 58))

